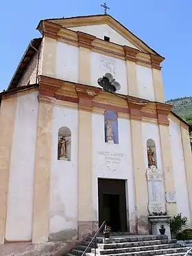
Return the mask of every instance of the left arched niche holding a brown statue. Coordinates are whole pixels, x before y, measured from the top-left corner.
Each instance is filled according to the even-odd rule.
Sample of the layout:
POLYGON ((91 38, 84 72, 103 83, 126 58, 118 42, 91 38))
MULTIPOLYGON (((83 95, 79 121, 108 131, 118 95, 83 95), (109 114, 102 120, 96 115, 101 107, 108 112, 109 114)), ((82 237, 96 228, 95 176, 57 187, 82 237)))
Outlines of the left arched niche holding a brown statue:
POLYGON ((71 130, 66 126, 58 130, 58 160, 71 161, 71 130))

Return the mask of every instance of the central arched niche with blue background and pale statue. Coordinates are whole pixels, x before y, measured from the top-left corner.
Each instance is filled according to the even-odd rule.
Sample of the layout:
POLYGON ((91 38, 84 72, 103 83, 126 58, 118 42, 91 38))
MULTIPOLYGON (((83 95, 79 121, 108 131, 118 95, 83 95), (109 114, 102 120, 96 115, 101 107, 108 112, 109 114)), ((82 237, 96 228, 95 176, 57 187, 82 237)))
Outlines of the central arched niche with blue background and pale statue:
POLYGON ((105 142, 119 144, 119 128, 117 114, 112 110, 104 113, 105 142))

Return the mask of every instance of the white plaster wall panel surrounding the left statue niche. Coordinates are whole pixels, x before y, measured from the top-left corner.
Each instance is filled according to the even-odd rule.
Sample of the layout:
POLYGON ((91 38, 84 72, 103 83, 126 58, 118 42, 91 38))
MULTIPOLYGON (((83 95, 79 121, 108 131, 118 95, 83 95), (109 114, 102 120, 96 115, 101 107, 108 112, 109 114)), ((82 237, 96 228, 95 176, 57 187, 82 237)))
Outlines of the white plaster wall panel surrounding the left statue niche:
POLYGON ((77 231, 78 111, 54 106, 52 132, 49 236, 66 238, 67 231, 77 231), (58 160, 58 130, 62 126, 71 130, 71 161, 58 160))

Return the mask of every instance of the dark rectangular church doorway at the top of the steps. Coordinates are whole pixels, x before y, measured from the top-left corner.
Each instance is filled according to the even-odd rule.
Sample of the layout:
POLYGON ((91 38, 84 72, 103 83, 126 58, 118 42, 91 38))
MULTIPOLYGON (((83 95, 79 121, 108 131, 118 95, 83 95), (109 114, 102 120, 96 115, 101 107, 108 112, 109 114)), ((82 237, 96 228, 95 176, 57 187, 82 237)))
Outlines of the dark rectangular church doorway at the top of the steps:
POLYGON ((106 220, 112 232, 127 231, 125 181, 98 179, 99 226, 106 220))

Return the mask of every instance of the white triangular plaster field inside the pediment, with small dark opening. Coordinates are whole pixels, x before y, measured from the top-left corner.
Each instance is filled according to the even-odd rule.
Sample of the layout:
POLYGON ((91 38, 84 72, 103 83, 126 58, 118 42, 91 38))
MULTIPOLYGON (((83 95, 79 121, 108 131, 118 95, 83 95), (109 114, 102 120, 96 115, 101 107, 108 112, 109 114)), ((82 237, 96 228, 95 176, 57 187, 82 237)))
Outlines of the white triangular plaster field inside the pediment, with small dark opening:
POLYGON ((110 27, 107 24, 87 25, 82 27, 68 27, 68 29, 73 31, 84 32, 86 34, 91 34, 103 40, 104 36, 108 36, 110 38, 110 42, 112 43, 117 43, 118 45, 127 45, 129 47, 138 49, 135 45, 130 43, 129 40, 125 39, 123 36, 121 36, 121 34, 113 30, 112 27, 110 27))

